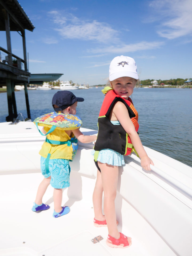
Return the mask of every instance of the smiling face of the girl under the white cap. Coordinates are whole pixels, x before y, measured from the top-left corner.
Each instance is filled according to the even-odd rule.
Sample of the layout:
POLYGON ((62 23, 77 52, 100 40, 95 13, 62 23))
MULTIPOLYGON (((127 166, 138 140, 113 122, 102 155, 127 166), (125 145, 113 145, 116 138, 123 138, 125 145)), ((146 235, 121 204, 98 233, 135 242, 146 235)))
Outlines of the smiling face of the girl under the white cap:
POLYGON ((132 77, 120 77, 110 81, 110 84, 117 95, 121 98, 128 99, 133 93, 136 82, 137 80, 132 77))

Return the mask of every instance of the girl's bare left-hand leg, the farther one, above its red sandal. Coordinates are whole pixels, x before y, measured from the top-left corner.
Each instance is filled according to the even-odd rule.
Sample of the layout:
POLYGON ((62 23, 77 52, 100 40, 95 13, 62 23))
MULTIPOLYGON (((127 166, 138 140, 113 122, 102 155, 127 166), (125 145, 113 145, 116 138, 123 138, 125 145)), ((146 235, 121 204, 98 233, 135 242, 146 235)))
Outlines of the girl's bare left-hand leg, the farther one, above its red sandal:
POLYGON ((102 213, 102 198, 103 198, 103 184, 101 173, 97 170, 97 179, 95 182, 95 188, 93 191, 93 208, 95 219, 98 221, 105 221, 105 216, 102 213))

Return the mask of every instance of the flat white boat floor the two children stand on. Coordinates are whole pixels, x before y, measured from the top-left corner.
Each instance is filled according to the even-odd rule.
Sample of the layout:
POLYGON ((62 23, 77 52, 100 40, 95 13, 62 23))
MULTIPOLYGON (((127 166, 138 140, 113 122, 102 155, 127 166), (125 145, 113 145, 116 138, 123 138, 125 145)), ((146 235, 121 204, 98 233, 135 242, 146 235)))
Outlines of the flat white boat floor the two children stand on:
POLYGON ((133 243, 126 249, 113 249, 106 245, 107 228, 93 225, 92 193, 95 179, 71 173, 71 187, 63 191, 63 205, 70 213, 53 218, 53 188, 48 187, 44 203, 50 209, 31 211, 40 173, 1 175, 1 242, 0 255, 175 255, 144 219, 120 195, 117 195, 119 231, 131 236, 133 243), (78 184, 78 185, 77 185, 78 184), (123 210, 124 209, 124 210, 123 210), (121 210, 123 211, 121 213, 121 210), (128 220, 129 226, 123 225, 128 220), (93 244, 91 239, 101 235, 104 239, 93 244), (153 244, 152 244, 153 243, 153 244), (155 248, 154 248, 155 247, 155 248), (157 247, 157 248, 156 248, 157 247), (120 252, 119 252, 120 250, 120 252), (157 250, 157 254, 154 254, 157 250), (163 254, 167 251, 169 254, 163 254))

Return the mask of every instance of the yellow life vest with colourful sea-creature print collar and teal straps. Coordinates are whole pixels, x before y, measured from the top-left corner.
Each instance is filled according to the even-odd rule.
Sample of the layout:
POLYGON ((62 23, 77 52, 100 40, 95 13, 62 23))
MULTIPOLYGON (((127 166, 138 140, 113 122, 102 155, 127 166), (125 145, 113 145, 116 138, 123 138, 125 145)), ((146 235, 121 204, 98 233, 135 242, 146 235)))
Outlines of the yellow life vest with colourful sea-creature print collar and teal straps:
MULTIPOLYGON (((65 130, 74 130, 81 127, 82 120, 80 117, 77 115, 51 112, 35 118, 33 122, 41 135, 46 136, 46 140, 39 154, 47 158, 47 165, 50 158, 73 160, 78 149, 78 142, 75 137, 69 137, 69 135, 65 133, 65 130), (47 133, 43 134, 38 126, 45 127, 47 133), (58 138, 62 138, 61 141, 58 141, 58 138)), ((46 168, 48 168, 48 166, 46 168)))

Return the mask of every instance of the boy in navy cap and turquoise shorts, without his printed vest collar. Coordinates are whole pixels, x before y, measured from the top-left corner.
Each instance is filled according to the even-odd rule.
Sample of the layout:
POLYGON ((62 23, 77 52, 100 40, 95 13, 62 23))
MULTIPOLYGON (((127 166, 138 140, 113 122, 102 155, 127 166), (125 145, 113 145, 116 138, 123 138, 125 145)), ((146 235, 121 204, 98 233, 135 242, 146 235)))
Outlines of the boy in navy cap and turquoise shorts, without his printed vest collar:
MULTIPOLYGON (((63 114, 76 114, 77 102, 84 101, 83 98, 76 97, 70 91, 58 91, 54 94, 52 99, 52 105, 56 112, 63 114)), ((46 134, 49 131, 49 127, 43 127, 42 132, 46 134)), ((47 141, 60 141, 65 142, 76 137, 82 143, 89 143, 97 139, 96 135, 83 135, 77 128, 75 130, 63 130, 55 129, 50 134, 46 135, 47 141)), ((44 142, 41 150, 41 172, 44 176, 43 181, 40 183, 35 202, 33 203, 32 211, 40 211, 49 209, 49 205, 42 203, 43 195, 46 192, 49 184, 54 188, 53 200, 54 211, 53 217, 57 218, 64 214, 69 213, 68 206, 62 207, 62 189, 69 187, 70 166, 69 160, 73 159, 70 147, 67 144, 55 145, 44 142), (46 168, 47 155, 50 154, 49 167, 46 168), (49 169, 49 170, 47 170, 49 169)))

